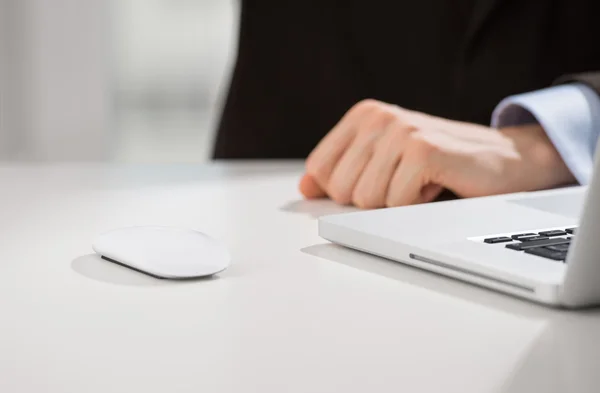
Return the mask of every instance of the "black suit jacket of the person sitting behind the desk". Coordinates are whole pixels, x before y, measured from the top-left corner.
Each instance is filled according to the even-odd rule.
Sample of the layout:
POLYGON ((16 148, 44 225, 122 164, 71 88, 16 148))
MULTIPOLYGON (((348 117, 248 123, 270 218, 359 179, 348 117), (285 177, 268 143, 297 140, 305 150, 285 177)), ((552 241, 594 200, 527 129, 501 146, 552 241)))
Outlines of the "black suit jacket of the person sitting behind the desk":
POLYGON ((304 158, 375 98, 488 124, 504 97, 600 69, 598 0, 243 0, 215 158, 304 158))

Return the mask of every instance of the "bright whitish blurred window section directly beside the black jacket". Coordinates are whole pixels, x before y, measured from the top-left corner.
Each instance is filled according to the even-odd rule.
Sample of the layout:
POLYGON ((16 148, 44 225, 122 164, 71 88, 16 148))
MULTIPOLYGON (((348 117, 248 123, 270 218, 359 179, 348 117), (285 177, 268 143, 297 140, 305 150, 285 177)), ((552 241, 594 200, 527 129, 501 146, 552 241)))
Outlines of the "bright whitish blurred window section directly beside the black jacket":
POLYGON ((113 0, 116 161, 202 162, 229 83, 236 0, 113 0))

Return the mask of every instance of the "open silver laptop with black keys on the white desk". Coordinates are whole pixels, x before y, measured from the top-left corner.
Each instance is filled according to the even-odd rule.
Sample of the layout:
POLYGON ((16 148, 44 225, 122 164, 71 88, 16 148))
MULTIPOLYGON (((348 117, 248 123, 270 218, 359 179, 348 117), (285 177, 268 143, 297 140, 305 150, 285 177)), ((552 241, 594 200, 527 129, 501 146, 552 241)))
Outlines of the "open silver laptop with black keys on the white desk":
POLYGON ((546 305, 600 305, 600 159, 587 187, 324 216, 319 235, 546 305))

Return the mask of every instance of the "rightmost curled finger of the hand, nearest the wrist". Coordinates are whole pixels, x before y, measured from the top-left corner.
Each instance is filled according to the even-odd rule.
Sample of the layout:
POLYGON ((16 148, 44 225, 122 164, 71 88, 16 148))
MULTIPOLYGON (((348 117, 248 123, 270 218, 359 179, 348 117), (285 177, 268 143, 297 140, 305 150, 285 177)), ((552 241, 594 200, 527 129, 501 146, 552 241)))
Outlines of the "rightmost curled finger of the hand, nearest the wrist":
POLYGON ((432 191, 424 188, 431 183, 435 184, 434 174, 438 171, 436 153, 435 145, 427 139, 425 133, 410 135, 406 153, 390 181, 387 206, 412 205, 425 202, 425 197, 431 198, 432 191))

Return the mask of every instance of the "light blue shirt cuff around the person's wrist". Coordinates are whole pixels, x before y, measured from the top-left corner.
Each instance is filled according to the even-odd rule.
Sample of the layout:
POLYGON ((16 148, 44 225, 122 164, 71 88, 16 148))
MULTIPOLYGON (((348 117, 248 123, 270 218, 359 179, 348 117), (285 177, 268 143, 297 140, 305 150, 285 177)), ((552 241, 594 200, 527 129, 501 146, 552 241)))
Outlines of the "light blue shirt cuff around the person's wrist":
POLYGON ((504 99, 492 127, 539 123, 580 184, 588 184, 600 134, 600 99, 590 87, 561 85, 504 99))

